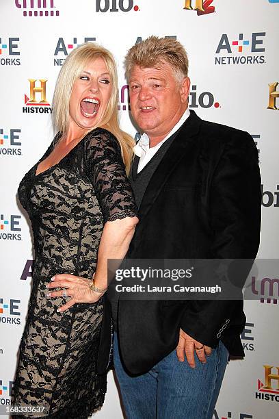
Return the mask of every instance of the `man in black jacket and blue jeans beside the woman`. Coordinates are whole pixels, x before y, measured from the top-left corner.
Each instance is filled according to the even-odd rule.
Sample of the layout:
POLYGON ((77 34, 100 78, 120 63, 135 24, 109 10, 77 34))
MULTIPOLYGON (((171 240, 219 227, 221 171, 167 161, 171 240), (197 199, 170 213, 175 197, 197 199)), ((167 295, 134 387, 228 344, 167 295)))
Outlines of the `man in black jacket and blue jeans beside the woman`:
MULTIPOLYGON (((130 176, 139 224, 127 257, 254 259, 261 178, 251 136, 189 111, 178 41, 152 36, 126 64, 143 133, 130 176)), ((112 299, 111 307, 127 417, 211 419, 228 354, 243 356, 243 302, 112 299)))

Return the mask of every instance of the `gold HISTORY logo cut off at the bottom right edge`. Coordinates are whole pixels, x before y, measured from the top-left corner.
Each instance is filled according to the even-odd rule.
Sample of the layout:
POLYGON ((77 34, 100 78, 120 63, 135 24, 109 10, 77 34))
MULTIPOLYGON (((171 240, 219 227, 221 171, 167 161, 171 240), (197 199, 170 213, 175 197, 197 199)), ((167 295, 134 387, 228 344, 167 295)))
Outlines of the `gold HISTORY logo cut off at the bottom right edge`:
POLYGON ((279 367, 263 365, 264 383, 258 379, 255 398, 279 402, 279 367))

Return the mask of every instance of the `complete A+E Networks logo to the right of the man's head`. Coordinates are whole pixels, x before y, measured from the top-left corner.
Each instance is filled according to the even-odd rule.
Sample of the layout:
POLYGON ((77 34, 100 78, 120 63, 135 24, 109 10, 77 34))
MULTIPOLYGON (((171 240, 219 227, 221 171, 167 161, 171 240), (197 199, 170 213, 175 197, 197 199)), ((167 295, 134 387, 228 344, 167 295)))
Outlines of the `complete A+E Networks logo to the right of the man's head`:
POLYGON ((265 32, 253 32, 249 36, 222 34, 215 52, 215 64, 265 64, 265 35, 265 32))

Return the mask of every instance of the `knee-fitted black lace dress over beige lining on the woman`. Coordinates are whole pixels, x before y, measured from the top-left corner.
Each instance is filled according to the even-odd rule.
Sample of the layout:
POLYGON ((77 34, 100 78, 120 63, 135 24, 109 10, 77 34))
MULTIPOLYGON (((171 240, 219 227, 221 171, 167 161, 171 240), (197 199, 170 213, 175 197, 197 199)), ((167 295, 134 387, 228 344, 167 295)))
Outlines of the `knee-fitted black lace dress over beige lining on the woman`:
POLYGON ((101 407, 106 391, 106 377, 95 373, 103 297, 58 313, 68 297, 48 299, 46 284, 59 273, 91 279, 104 223, 135 216, 137 210, 120 146, 105 129, 91 131, 58 164, 36 176, 58 138, 18 188, 36 257, 12 403, 44 406, 42 417, 79 419, 101 407))

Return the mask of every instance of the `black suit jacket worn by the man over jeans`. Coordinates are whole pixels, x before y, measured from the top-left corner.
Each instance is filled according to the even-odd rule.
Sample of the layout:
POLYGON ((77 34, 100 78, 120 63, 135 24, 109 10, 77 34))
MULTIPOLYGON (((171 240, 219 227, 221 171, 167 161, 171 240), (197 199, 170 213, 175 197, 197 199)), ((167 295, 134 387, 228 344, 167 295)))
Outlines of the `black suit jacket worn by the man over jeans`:
MULTIPOLYGON (((191 111, 148 183, 127 257, 254 259, 260 226, 252 137, 191 111)), ((213 348, 221 338, 230 355, 243 355, 244 325, 242 301, 119 301, 120 353, 132 374, 173 351, 179 328, 213 348)))

